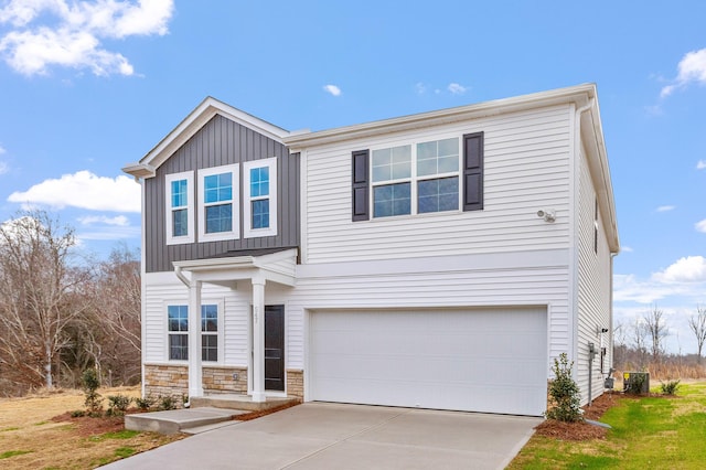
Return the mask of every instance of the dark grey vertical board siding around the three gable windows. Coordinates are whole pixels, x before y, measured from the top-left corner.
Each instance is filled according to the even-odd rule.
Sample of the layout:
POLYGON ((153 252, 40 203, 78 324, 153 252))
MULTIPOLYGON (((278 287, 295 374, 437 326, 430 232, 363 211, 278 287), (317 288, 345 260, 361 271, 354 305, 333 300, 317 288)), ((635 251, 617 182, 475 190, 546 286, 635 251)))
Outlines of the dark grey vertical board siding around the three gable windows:
MULTIPOLYGON (((145 180, 145 249, 146 271, 172 270, 172 261, 203 259, 221 256, 226 252, 254 248, 277 248, 299 245, 299 156, 290 154, 287 147, 240 124, 216 115, 191 139, 176 150, 157 170, 154 178, 145 180), (257 238, 239 238, 167 245, 164 177, 171 173, 194 171, 194 183, 199 190, 195 171, 250 160, 277 157, 278 161, 278 213, 277 235, 257 238)), ((243 201, 243 171, 238 182, 238 203, 243 201)), ((195 207, 194 207, 195 210, 195 207)), ((243 210, 240 207, 240 214, 243 210)), ((199 224, 196 213, 195 223, 199 224)), ((243 234, 243 221, 239 221, 243 234)))

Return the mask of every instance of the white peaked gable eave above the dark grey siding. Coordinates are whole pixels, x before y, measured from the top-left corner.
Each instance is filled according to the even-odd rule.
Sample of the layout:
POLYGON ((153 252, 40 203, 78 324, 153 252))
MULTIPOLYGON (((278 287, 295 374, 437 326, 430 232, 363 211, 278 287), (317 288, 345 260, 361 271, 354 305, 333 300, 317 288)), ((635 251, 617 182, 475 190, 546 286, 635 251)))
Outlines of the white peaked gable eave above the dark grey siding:
POLYGON ((289 131, 280 127, 208 96, 152 150, 138 162, 127 164, 122 171, 138 179, 153 178, 157 169, 216 115, 246 126, 278 142, 282 142, 282 139, 289 135, 289 131))

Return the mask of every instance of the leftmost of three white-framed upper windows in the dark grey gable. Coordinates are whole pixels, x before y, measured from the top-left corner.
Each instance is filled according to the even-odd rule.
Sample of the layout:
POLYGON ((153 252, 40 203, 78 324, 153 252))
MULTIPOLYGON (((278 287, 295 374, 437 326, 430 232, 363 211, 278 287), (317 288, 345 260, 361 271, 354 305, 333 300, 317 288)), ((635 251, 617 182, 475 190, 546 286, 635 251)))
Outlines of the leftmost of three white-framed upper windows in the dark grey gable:
POLYGON ((194 242, 193 173, 175 173, 165 178, 167 244, 194 242))

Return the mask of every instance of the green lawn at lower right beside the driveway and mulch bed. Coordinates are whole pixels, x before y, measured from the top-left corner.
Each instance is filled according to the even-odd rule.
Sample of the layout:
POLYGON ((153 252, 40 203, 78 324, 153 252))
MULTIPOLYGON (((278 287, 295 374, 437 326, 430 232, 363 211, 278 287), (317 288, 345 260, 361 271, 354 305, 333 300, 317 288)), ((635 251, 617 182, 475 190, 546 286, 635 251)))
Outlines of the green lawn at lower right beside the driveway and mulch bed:
POLYGON ((600 419, 605 440, 534 436, 510 469, 704 469, 706 382, 681 385, 676 397, 622 398, 600 419))

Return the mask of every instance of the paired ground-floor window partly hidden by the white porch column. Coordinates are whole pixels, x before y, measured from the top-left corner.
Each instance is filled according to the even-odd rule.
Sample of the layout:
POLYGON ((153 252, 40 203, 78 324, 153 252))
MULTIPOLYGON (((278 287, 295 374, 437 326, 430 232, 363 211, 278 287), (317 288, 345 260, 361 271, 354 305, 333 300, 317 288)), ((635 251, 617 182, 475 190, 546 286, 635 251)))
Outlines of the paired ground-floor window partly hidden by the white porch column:
MULTIPOLYGON (((189 360, 189 306, 168 306, 169 359, 189 360)), ((201 360, 218 361, 218 305, 201 306, 201 360)))

